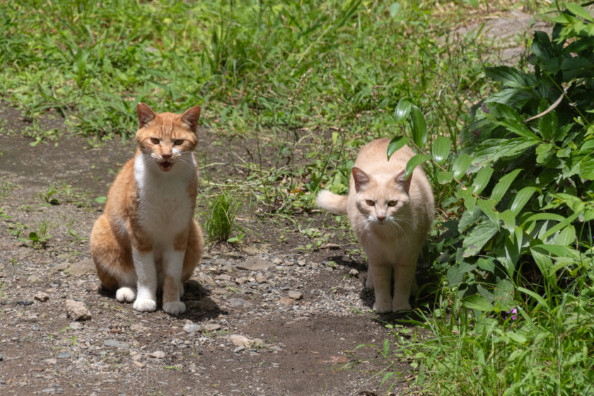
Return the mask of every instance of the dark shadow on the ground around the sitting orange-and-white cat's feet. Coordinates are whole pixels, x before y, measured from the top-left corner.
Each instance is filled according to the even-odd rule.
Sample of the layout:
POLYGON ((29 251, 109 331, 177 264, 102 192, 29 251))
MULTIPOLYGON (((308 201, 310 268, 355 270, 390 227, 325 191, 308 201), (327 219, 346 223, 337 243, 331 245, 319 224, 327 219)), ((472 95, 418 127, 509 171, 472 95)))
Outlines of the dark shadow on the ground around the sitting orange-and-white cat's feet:
MULTIPOLYGON (((190 319, 192 322, 200 322, 217 318, 221 313, 227 313, 211 300, 209 289, 206 289, 198 281, 190 279, 184 284, 184 289, 184 296, 181 300, 186 305, 186 311, 180 315, 180 318, 190 319)), ((115 291, 105 289, 101 286, 99 288, 99 294, 107 298, 112 298, 117 303, 115 300, 115 291)), ((120 304, 128 305, 128 303, 120 304)), ((132 309, 132 303, 129 306, 132 309)), ((157 292, 157 311, 159 310, 163 310, 163 291, 157 292)))

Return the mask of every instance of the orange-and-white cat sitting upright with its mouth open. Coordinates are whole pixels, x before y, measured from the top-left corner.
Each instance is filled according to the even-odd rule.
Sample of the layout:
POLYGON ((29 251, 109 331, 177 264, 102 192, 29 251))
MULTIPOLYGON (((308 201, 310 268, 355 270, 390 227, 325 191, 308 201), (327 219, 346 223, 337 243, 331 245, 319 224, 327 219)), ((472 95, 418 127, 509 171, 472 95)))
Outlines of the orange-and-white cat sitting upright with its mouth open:
POLYGON ((182 115, 136 107, 136 155, 124 165, 107 195, 105 212, 91 231, 91 254, 101 284, 134 310, 185 312, 180 301, 204 242, 194 221, 197 165, 194 147, 200 107, 182 115))

